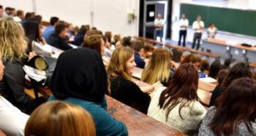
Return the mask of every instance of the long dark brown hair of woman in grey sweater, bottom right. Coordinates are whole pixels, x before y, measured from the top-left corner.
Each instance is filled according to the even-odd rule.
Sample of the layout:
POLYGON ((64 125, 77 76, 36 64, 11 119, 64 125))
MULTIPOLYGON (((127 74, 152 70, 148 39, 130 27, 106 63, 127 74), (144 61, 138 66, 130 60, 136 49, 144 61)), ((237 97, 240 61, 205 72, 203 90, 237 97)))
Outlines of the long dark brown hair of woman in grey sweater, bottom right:
POLYGON ((216 135, 231 135, 244 123, 249 132, 256 120, 256 82, 249 77, 236 79, 216 99, 216 114, 211 120, 211 130, 216 135))

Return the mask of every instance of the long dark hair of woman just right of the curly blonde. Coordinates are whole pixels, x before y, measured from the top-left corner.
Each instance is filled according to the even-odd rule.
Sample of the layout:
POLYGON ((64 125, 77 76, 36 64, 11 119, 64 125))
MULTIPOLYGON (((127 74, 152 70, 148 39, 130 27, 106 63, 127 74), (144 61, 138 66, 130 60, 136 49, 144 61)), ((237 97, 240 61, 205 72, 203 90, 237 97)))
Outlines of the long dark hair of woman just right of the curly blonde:
POLYGON ((34 19, 27 20, 23 25, 26 37, 28 39, 28 48, 31 50, 31 43, 33 40, 40 40, 40 25, 39 22, 34 19))

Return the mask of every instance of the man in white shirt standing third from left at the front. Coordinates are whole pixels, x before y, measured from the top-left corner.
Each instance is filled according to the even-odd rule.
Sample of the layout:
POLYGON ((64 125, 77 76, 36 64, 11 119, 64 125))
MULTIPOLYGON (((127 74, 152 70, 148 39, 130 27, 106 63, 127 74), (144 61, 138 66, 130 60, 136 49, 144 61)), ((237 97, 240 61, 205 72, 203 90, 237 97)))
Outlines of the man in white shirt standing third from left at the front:
POLYGON ((196 40, 197 40, 197 49, 199 49, 200 42, 201 42, 201 32, 204 29, 204 27, 205 27, 205 24, 203 21, 201 21, 201 16, 197 16, 197 21, 194 21, 192 25, 193 30, 195 30, 192 49, 195 48, 196 40))

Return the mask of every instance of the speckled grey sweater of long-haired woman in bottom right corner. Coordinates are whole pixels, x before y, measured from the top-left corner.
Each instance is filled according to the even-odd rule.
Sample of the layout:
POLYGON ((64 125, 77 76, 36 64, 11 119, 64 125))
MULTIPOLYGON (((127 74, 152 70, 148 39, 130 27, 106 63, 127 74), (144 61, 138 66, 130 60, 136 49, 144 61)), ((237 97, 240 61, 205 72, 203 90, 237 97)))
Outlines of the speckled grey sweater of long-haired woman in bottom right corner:
MULTIPOLYGON (((214 136, 215 134, 213 134, 213 132, 210 129, 210 124, 211 124, 211 120, 213 119, 214 115, 216 113, 216 109, 214 106, 212 106, 211 108, 209 108, 209 110, 206 113, 206 116, 204 117, 204 119, 202 120, 200 129, 199 129, 199 134, 198 136, 214 136)), ((232 136, 250 136, 250 135, 256 135, 256 123, 252 122, 252 126, 253 126, 253 134, 249 133, 249 130, 247 129, 246 125, 244 123, 239 124, 239 132, 238 134, 233 133, 231 134, 232 136)), ((224 136, 224 134, 222 134, 224 136)))

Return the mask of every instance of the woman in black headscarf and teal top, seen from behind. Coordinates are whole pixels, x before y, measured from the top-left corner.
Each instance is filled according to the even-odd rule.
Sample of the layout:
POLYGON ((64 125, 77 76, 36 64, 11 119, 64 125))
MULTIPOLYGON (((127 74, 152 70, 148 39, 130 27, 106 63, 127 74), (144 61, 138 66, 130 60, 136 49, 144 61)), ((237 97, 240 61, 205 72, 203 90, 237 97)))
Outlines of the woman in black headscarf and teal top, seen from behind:
POLYGON ((48 101, 66 101, 88 110, 97 136, 128 135, 126 125, 107 113, 107 73, 95 50, 78 48, 60 54, 50 85, 53 96, 48 101))

